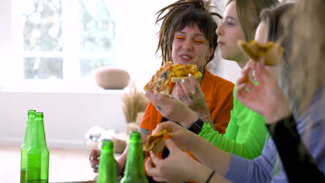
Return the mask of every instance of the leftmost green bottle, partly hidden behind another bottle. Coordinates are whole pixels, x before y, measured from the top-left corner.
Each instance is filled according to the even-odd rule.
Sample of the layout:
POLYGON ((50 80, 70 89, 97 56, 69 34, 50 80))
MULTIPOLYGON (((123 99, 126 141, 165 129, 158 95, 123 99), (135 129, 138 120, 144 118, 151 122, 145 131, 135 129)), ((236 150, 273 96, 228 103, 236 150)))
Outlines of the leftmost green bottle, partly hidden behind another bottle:
POLYGON ((20 183, 26 183, 27 150, 31 146, 31 136, 35 119, 35 110, 28 110, 24 143, 20 147, 20 183))

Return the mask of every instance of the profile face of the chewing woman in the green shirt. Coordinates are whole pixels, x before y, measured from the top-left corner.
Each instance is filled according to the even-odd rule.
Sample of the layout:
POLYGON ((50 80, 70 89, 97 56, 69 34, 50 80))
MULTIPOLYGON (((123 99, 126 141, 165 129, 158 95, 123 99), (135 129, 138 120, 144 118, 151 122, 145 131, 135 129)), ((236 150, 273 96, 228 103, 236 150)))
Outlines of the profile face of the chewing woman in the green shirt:
POLYGON ((226 6, 222 19, 222 24, 218 26, 216 33, 218 35, 218 47, 222 58, 240 62, 244 55, 237 46, 238 40, 245 40, 244 31, 238 19, 236 2, 226 6))

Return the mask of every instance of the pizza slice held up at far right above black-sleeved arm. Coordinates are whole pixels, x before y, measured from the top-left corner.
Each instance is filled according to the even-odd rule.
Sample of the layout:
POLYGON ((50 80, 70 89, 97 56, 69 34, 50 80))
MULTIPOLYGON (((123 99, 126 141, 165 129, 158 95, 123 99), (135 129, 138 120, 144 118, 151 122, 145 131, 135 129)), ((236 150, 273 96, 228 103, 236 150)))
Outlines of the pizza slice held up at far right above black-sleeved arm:
POLYGON ((265 65, 274 66, 278 64, 278 61, 283 55, 283 48, 280 44, 275 42, 266 42, 265 44, 259 44, 258 42, 251 40, 245 42, 244 40, 238 40, 238 46, 247 56, 252 60, 258 62, 261 58, 264 58, 265 65))

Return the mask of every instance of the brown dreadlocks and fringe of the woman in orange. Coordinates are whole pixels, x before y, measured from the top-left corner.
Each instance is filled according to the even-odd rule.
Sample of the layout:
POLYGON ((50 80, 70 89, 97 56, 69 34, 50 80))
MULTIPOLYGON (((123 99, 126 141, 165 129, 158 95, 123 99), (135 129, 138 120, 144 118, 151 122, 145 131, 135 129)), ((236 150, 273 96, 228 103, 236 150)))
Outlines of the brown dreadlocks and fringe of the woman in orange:
MULTIPOLYGON (((183 30, 185 26, 197 24, 201 32, 209 42, 210 48, 217 47, 217 23, 213 20, 213 15, 221 18, 216 12, 209 12, 209 6, 203 0, 180 0, 159 10, 156 15, 156 24, 163 20, 163 24, 158 32, 159 42, 156 53, 161 50, 163 58, 162 65, 172 60, 172 43, 176 31, 183 30), (169 10, 165 15, 163 13, 169 10)), ((213 7, 214 8, 214 7, 213 7)), ((210 56, 206 64, 213 60, 214 54, 210 56)))

